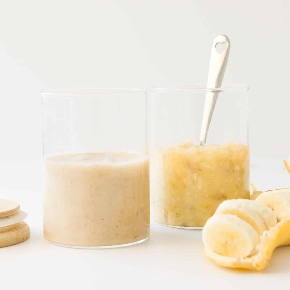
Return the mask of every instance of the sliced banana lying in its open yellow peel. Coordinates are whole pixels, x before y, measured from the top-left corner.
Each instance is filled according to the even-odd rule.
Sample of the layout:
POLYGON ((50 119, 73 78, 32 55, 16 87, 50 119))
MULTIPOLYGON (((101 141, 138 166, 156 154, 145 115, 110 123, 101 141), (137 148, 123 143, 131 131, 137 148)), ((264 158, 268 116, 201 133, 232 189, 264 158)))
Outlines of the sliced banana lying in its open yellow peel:
POLYGON ((216 264, 264 269, 276 247, 290 244, 290 189, 264 192, 256 201, 224 201, 205 224, 202 238, 204 254, 216 264))

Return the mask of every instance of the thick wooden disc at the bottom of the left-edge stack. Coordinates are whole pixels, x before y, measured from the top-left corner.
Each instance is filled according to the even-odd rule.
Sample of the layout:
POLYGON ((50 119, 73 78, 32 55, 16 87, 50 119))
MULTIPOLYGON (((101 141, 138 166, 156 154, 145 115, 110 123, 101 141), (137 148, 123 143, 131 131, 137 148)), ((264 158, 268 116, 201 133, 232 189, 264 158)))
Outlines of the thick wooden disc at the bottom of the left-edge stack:
POLYGON ((29 238, 29 235, 30 228, 26 222, 4 226, 0 228, 0 248, 24 242, 29 238))

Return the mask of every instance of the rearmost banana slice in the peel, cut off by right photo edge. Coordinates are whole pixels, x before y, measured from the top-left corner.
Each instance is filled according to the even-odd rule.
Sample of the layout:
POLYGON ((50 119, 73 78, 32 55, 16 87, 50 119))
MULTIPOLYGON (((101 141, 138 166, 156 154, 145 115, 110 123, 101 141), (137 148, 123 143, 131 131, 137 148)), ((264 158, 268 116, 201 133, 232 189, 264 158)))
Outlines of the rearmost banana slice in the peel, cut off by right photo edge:
POLYGON ((266 191, 258 196, 256 201, 272 209, 278 221, 290 217, 290 189, 266 191))

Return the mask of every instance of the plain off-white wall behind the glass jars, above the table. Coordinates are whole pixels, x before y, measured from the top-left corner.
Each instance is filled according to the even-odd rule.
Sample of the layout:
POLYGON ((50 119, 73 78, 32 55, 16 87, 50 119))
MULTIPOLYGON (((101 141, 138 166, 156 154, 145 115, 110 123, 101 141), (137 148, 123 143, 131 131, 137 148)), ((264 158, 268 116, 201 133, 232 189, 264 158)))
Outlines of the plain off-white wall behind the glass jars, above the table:
POLYGON ((251 87, 253 155, 290 154, 290 2, 0 0, 0 161, 41 156, 39 91, 206 83, 215 36, 224 83, 251 87))

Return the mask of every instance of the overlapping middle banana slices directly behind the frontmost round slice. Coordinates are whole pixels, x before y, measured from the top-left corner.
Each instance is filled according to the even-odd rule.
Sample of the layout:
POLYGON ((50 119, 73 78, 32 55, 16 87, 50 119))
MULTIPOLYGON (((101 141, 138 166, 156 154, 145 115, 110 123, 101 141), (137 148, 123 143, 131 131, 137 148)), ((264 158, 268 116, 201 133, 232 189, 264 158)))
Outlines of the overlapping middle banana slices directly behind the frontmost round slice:
POLYGON ((249 223, 259 235, 277 223, 275 213, 254 200, 236 199, 222 202, 215 213, 236 215, 249 223))

